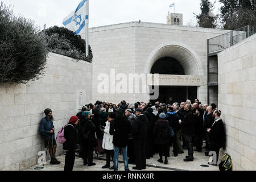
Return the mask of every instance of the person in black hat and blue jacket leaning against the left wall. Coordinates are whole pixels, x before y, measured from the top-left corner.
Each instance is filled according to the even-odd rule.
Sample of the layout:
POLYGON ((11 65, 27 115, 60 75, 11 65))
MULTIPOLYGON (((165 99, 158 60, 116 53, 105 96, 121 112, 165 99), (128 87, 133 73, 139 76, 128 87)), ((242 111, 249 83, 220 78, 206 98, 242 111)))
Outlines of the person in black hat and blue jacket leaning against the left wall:
POLYGON ((46 117, 42 119, 39 127, 40 134, 44 137, 44 147, 49 150, 49 155, 51 156, 50 163, 60 164, 60 162, 55 158, 57 143, 54 134, 55 127, 53 126, 52 110, 46 109, 44 110, 44 114, 46 114, 46 117))

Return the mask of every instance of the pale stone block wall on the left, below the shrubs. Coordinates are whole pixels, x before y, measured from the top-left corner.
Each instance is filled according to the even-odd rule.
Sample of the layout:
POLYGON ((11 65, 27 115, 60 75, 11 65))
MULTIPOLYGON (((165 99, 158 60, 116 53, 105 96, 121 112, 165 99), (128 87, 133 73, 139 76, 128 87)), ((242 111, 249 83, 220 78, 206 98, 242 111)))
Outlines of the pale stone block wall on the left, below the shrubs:
MULTIPOLYGON (((38 152, 46 151, 39 134, 44 109, 53 111, 56 135, 76 114, 78 90, 84 91, 86 103, 91 102, 91 63, 49 53, 46 67, 39 80, 0 86, 0 170, 34 166, 38 152)), ((56 155, 60 154, 63 148, 58 143, 56 155)))

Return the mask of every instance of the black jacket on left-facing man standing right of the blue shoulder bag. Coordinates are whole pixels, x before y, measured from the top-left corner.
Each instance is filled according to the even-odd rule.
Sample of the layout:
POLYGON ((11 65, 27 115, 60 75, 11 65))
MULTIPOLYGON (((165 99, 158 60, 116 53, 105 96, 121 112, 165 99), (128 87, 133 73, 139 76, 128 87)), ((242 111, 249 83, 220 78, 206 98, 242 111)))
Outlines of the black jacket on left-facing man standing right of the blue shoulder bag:
POLYGON ((181 122, 181 129, 183 134, 195 136, 195 121, 191 110, 185 111, 181 122))

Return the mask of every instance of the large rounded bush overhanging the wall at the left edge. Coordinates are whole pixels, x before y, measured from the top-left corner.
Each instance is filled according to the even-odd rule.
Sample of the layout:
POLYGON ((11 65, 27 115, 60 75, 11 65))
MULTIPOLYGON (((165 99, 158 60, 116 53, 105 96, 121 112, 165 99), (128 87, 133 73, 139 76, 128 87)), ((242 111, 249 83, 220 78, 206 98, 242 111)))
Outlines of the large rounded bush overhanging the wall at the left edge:
POLYGON ((0 4, 0 84, 25 84, 43 75, 47 58, 45 36, 39 27, 0 4))

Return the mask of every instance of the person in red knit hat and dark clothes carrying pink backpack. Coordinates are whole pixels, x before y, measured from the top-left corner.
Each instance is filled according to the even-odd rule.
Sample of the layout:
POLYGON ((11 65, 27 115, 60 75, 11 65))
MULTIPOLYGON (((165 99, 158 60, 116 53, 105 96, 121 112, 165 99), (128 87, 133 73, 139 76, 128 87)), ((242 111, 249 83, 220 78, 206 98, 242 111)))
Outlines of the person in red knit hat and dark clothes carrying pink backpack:
POLYGON ((65 143, 63 143, 63 149, 66 151, 64 171, 72 171, 74 167, 75 151, 79 149, 76 130, 78 121, 79 118, 73 115, 64 129, 64 138, 66 139, 65 143))

